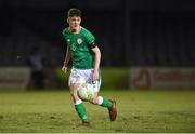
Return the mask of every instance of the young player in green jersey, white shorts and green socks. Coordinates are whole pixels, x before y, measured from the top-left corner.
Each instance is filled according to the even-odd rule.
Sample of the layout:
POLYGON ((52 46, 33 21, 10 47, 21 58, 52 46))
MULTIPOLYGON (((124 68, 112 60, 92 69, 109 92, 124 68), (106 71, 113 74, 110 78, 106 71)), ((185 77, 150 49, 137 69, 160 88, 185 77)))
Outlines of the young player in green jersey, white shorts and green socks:
POLYGON ((99 96, 101 85, 100 62, 101 52, 95 43, 94 36, 80 26, 81 11, 78 9, 69 9, 67 23, 69 27, 63 30, 63 38, 66 40, 67 49, 62 70, 68 72, 68 63, 72 58, 73 67, 69 75, 68 85, 70 94, 75 103, 75 109, 82 120, 82 124, 88 124, 88 117, 84 105, 77 94, 80 84, 87 82, 93 84, 95 96, 90 103, 106 107, 109 112, 110 121, 115 121, 117 116, 116 102, 99 96))

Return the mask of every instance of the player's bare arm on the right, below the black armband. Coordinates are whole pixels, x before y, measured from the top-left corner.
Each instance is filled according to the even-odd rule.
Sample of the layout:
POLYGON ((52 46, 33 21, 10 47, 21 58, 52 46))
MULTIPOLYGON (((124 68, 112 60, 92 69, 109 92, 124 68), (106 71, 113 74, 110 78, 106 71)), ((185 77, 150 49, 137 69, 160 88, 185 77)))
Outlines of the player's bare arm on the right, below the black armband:
POLYGON ((98 45, 94 45, 91 49, 94 52, 95 55, 95 65, 94 65, 94 71, 92 75, 93 81, 99 80, 99 68, 100 68, 100 62, 101 62, 101 52, 98 45))

